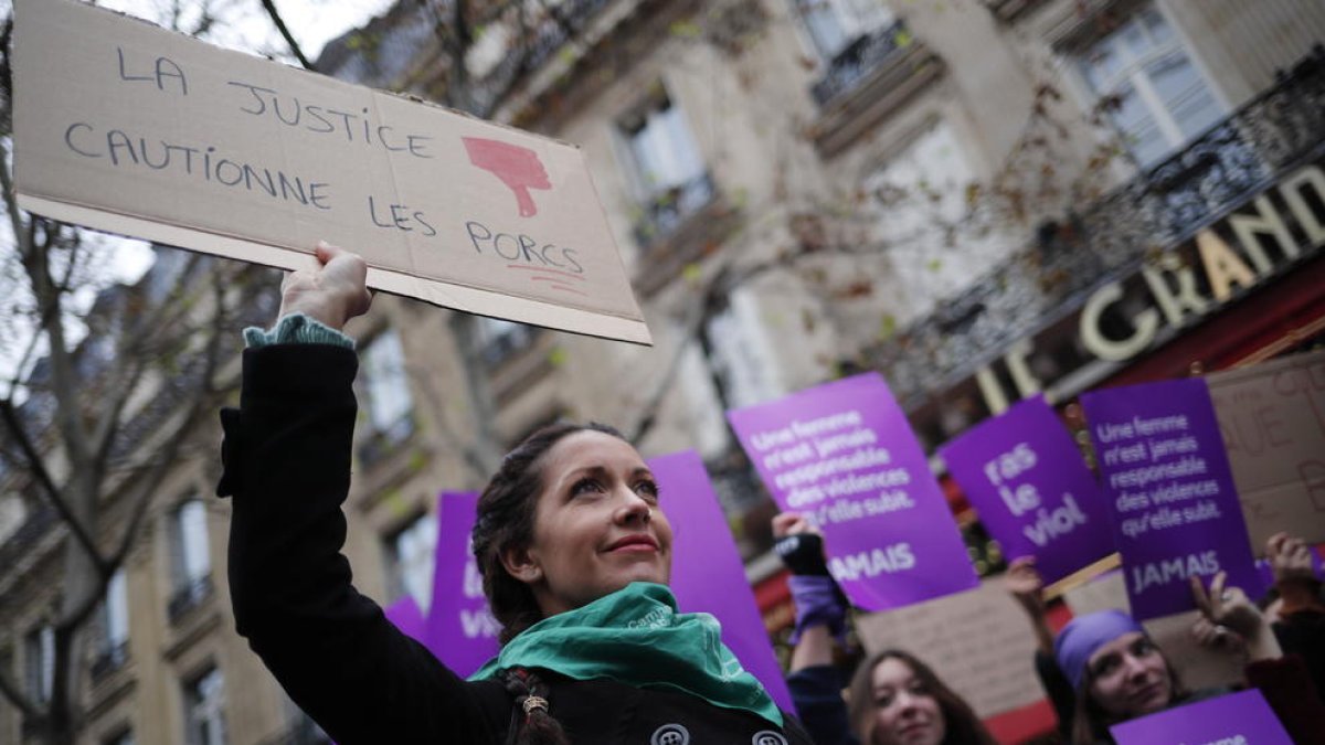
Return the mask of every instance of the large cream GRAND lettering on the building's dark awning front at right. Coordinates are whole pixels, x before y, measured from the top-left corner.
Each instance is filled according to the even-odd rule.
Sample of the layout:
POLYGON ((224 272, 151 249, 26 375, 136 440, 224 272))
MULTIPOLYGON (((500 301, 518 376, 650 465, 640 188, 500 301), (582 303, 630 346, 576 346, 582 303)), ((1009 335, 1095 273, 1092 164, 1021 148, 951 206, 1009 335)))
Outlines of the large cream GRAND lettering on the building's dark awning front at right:
MULTIPOLYGON (((1322 245, 1325 170, 1313 163, 1202 228, 1158 262, 1096 289, 1079 312, 1076 341, 1096 359, 1126 362, 1322 245), (1120 315, 1124 323, 1110 322, 1120 315)), ((1052 383, 1031 371, 1028 359, 1035 354, 1035 343, 1023 339, 1003 355, 1019 398, 1052 383)), ((990 367, 979 370, 977 380, 991 411, 1006 408, 990 367)))

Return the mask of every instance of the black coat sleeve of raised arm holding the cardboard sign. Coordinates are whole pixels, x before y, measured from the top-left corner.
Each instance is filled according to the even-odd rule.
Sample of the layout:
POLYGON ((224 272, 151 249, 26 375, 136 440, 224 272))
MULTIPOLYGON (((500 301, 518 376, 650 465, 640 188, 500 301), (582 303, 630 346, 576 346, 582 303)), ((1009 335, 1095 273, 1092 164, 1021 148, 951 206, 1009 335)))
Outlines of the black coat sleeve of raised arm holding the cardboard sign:
POLYGON ((500 684, 462 681, 351 586, 341 504, 356 369, 352 351, 329 345, 244 353, 240 410, 221 412, 217 488, 235 497, 236 627, 341 745, 494 742, 505 729, 500 684))

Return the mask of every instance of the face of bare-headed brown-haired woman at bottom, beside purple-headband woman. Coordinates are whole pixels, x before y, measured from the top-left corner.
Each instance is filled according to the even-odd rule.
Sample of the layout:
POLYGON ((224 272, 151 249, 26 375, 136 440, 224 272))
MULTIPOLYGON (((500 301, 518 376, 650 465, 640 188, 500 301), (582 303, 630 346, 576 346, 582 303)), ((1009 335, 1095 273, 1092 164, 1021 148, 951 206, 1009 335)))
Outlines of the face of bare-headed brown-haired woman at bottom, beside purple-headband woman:
POLYGON ((874 667, 872 745, 938 745, 947 734, 943 711, 910 665, 888 658, 874 667))

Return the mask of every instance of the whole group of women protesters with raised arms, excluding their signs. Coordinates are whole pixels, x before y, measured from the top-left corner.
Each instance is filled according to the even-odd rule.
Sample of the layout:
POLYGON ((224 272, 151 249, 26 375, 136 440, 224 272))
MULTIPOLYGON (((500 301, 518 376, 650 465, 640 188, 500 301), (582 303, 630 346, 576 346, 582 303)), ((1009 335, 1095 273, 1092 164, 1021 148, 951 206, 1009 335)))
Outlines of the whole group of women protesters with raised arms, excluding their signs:
MULTIPOLYGON (((235 500, 237 628, 335 741, 995 742, 925 650, 874 652, 843 695, 832 660, 847 602, 822 538, 790 513, 775 534, 798 611, 788 687, 799 718, 779 709, 712 616, 677 611, 659 487, 631 443, 592 424, 535 432, 484 489, 472 545, 504 646, 472 679, 457 676, 354 589, 341 554, 356 418, 356 358, 342 329, 371 296, 362 258, 326 245, 317 258, 286 280, 273 327, 245 331, 240 407, 223 412, 219 493, 235 500)), ((1297 742, 1321 742, 1320 583, 1301 541, 1276 536, 1268 550, 1268 608, 1222 575, 1194 581, 1194 634, 1244 655, 1242 685, 1265 695, 1297 742)), ((1121 611, 1052 634, 1034 562, 1014 561, 1007 582, 1036 631, 1036 669, 1064 741, 1109 742, 1113 724, 1226 692, 1185 687, 1121 611)))

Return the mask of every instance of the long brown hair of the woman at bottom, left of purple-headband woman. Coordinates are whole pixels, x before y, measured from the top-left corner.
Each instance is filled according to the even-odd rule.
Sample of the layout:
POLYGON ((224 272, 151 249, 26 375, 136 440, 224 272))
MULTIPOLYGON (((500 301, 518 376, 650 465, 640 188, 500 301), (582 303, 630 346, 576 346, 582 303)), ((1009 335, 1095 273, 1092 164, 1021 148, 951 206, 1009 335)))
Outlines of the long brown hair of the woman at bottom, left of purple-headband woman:
POLYGON ((900 660, 909 667, 912 675, 920 679, 929 695, 938 703, 947 730, 947 734, 943 736, 943 745, 998 745, 998 741, 984 729, 980 717, 975 716, 970 704, 939 680, 928 664, 901 650, 884 650, 871 655, 856 668, 856 675, 851 679, 848 716, 851 717, 851 729, 861 745, 871 745, 874 734, 874 669, 886 660, 900 660))

